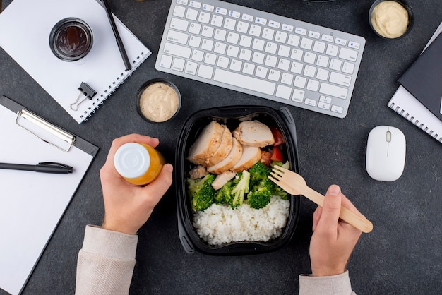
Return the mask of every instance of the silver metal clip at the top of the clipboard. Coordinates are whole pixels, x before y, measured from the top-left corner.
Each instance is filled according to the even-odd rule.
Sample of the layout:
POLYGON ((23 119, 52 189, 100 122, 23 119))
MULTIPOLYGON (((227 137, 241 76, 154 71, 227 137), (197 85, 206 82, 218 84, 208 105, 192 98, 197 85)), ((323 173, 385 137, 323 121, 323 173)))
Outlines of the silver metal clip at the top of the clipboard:
POLYGON ((63 152, 71 150, 72 146, 76 143, 76 136, 73 136, 58 126, 54 126, 54 124, 49 123, 27 109, 21 109, 17 112, 16 124, 32 133, 34 136, 37 136, 37 138, 40 138, 40 140, 45 143, 48 143, 63 152), (23 124, 20 123, 20 121, 22 121, 20 118, 23 119, 23 124), (25 124, 25 122, 30 124, 25 124), (41 133, 41 135, 37 134, 37 128, 35 127, 40 128, 40 130, 43 130, 44 132, 41 133))

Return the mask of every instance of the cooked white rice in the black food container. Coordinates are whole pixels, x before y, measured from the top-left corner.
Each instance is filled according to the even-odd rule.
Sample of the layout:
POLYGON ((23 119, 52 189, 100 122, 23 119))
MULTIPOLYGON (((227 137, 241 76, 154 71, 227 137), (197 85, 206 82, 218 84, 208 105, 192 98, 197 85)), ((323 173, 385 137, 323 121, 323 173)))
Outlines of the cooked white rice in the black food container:
POLYGON ((273 196, 262 209, 249 204, 232 209, 213 204, 193 215, 193 227, 209 245, 238 241, 269 241, 282 234, 289 217, 289 200, 273 196))

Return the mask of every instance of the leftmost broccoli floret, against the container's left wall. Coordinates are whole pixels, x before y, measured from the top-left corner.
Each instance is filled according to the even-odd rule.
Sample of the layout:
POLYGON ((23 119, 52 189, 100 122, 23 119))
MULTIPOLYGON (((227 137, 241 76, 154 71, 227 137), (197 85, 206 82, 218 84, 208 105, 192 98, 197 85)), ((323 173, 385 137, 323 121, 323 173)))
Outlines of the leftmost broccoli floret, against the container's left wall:
POLYGON ((215 175, 207 174, 201 179, 187 179, 193 211, 204 211, 214 202, 215 189, 212 187, 215 175))

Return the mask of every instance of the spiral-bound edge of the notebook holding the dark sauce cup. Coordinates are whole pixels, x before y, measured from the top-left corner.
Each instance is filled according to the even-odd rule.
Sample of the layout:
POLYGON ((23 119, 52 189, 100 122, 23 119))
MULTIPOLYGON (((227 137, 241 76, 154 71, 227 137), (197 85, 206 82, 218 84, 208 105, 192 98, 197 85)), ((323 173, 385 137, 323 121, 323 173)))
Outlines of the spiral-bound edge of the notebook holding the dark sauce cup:
POLYGON ((150 52, 148 54, 145 54, 145 52, 141 52, 141 54, 139 56, 137 56, 136 59, 134 59, 132 61, 131 70, 120 73, 119 76, 117 76, 117 78, 115 78, 115 80, 112 82, 111 85, 109 85, 107 87, 106 90, 104 90, 102 93, 98 94, 96 96, 97 98, 94 98, 95 102, 92 102, 91 106, 88 107, 88 109, 86 109, 83 112, 83 114, 80 116, 80 119, 83 119, 83 122, 88 121, 88 119, 92 116, 92 114, 94 114, 95 111, 97 109, 99 109, 100 106, 102 104, 104 104, 104 102, 107 101, 109 96, 111 96, 112 93, 114 93, 114 91, 117 90, 117 88, 119 88, 119 86, 127 78, 129 78, 129 76, 132 75, 132 73, 136 70, 136 68, 138 68, 138 66, 141 66, 141 64, 143 64, 143 61, 145 61, 145 59, 147 59, 149 57, 149 55, 150 55, 150 52))

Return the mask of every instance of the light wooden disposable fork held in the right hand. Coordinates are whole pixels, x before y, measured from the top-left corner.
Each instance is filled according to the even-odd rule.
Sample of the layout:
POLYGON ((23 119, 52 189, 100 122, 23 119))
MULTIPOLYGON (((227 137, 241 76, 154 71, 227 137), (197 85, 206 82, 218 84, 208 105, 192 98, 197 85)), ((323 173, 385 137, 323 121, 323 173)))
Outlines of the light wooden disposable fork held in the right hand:
MULTIPOLYGON (((277 165, 273 167, 272 171, 271 176, 268 176, 268 178, 280 186, 280 188, 292 195, 304 195, 322 207, 324 196, 309 188, 301 175, 277 165)), ((339 217, 362 232, 369 233, 373 229, 373 224, 368 219, 357 215, 346 207, 341 206, 339 217)))

